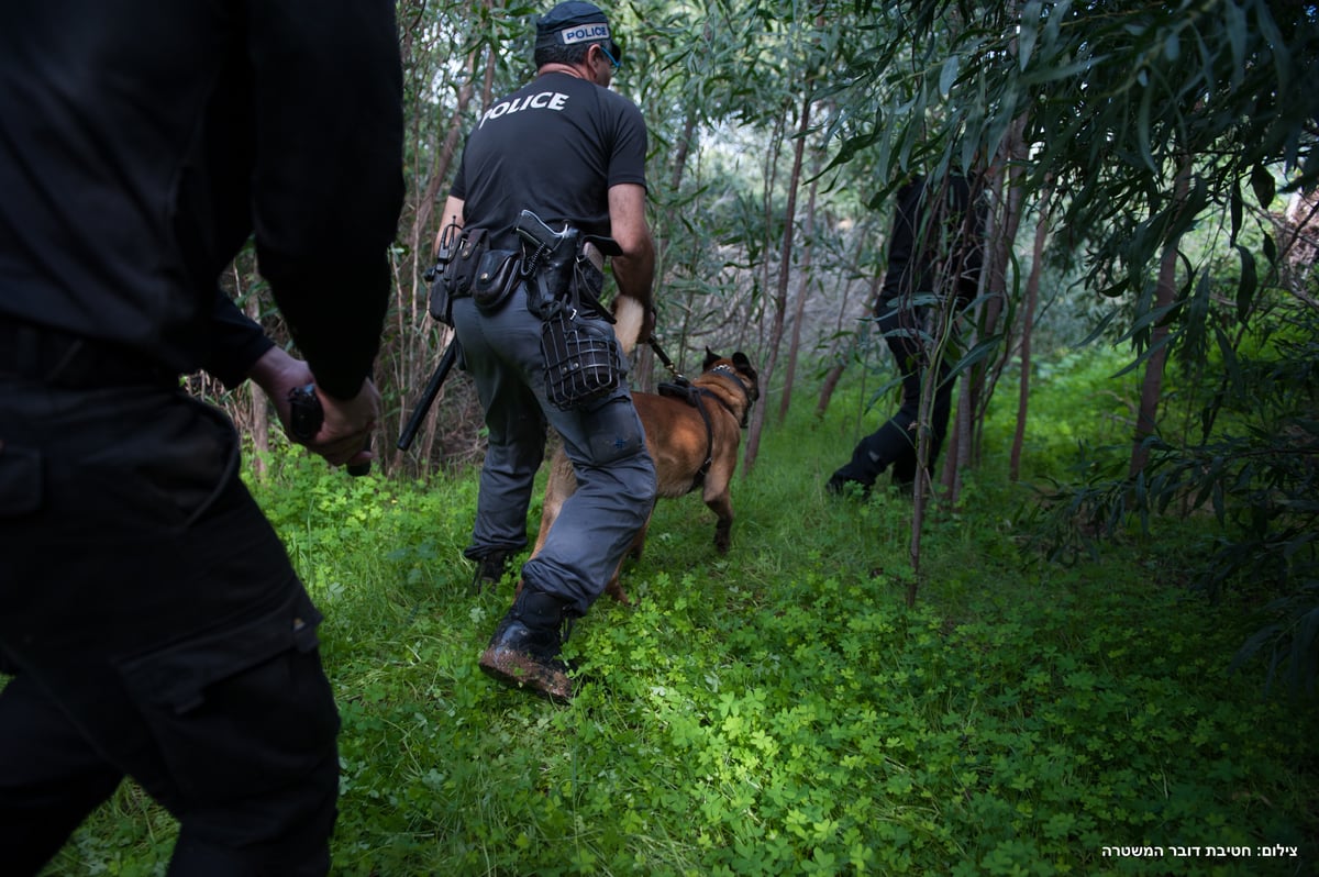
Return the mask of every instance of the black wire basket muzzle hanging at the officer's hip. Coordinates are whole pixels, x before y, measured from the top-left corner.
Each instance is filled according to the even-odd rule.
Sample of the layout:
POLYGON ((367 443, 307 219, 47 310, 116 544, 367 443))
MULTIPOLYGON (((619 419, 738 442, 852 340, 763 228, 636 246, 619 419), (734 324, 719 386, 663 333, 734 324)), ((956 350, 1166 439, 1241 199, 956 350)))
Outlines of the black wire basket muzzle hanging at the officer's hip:
POLYGON ((545 357, 545 396, 570 411, 609 396, 623 385, 623 360, 613 331, 599 319, 583 319, 576 310, 559 310, 541 330, 545 357))

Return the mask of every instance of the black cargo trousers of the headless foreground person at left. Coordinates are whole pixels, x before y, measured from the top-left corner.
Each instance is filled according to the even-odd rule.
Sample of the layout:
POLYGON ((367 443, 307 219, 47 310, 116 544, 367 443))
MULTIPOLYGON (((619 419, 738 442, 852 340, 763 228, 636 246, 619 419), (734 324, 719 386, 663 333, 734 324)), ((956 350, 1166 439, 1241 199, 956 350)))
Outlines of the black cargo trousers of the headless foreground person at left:
POLYGON ((232 425, 177 389, 4 365, 0 869, 36 873, 132 777, 178 818, 170 874, 324 874, 321 616, 232 425))

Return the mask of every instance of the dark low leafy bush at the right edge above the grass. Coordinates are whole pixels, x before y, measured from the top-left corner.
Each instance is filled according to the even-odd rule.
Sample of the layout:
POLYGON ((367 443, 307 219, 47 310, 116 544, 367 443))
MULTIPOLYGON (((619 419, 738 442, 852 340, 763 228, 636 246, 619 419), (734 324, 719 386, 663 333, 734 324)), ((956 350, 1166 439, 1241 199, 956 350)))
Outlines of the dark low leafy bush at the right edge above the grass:
MULTIPOLYGON (((1239 655, 1268 658, 1270 682, 1312 695, 1319 683, 1319 311, 1287 306, 1257 320, 1252 343, 1207 352, 1221 376, 1181 388, 1188 435, 1151 437, 1128 477, 1113 450, 1088 448, 1066 487, 1033 508, 1053 557, 1129 525, 1192 522, 1175 541, 1186 575, 1211 599, 1228 590, 1268 600, 1268 624, 1239 655), (1212 522, 1212 525, 1210 524, 1212 522)), ((1093 440, 1093 437, 1091 437, 1093 440)))

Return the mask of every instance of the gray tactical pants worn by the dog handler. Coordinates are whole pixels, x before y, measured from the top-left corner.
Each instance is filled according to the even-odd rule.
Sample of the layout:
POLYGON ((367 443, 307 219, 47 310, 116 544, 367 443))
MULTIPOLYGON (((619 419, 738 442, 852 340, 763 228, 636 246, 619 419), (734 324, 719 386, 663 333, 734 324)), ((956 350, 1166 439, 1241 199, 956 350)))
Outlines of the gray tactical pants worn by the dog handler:
POLYGON ((485 410, 489 444, 481 468, 476 525, 466 554, 526 546, 526 513, 545 456, 546 425, 563 438, 578 489, 565 504, 522 582, 584 615, 613 576, 654 505, 656 471, 641 419, 624 385, 603 401, 561 411, 545 397, 541 319, 518 289, 496 314, 471 298, 454 302, 466 371, 485 410))

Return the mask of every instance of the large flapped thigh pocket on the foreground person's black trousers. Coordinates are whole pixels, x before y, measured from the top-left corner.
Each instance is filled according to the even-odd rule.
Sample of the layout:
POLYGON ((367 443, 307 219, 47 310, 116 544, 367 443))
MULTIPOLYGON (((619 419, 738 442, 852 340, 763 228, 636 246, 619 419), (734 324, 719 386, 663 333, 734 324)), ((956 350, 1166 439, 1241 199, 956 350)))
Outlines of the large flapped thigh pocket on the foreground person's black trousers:
POLYGON ((317 653, 319 621, 298 588, 277 612, 120 665, 190 799, 261 794, 332 764, 339 713, 317 653))

